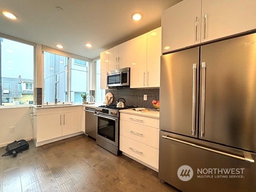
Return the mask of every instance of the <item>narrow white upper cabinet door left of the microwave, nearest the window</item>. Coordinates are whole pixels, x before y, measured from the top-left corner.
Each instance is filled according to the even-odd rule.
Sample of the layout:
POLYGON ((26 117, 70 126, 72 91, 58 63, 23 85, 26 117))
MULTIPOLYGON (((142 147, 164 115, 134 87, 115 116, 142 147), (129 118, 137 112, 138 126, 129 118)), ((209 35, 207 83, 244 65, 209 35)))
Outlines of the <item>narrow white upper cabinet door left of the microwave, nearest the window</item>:
POLYGON ((100 88, 107 89, 108 50, 100 53, 100 88))

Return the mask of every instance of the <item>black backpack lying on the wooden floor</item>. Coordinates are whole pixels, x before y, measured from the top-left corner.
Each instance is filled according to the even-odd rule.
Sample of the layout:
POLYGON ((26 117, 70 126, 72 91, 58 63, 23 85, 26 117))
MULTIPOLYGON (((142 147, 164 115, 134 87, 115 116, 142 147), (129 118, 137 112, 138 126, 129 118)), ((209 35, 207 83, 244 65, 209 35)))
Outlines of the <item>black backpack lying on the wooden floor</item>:
POLYGON ((6 152, 2 156, 8 156, 8 155, 13 155, 14 157, 17 156, 18 153, 22 153, 22 151, 28 149, 29 144, 26 142, 26 140, 22 139, 19 141, 14 141, 13 143, 10 143, 6 147, 6 152))

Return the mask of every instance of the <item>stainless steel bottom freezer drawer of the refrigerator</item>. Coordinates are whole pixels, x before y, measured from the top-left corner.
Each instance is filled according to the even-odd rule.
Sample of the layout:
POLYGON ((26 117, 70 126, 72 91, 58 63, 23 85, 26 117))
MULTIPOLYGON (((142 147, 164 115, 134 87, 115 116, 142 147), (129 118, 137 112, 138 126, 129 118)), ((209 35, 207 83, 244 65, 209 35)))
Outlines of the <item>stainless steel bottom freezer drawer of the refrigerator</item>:
MULTIPOLYGON (((205 141, 174 136, 174 134, 160 131, 159 178, 183 192, 256 191, 255 163, 248 163, 197 147, 208 148, 207 145, 205 141), (196 146, 162 138, 166 134, 170 138, 194 143, 196 146), (182 169, 179 170, 184 165, 189 166, 191 170, 188 167, 182 167, 183 172, 182 169), (182 179, 187 179, 187 181, 182 179)), ((232 154, 233 151, 230 151, 232 154)), ((239 154, 234 155, 239 156, 239 154)), ((252 159, 256 159, 255 154, 250 155, 252 159)))

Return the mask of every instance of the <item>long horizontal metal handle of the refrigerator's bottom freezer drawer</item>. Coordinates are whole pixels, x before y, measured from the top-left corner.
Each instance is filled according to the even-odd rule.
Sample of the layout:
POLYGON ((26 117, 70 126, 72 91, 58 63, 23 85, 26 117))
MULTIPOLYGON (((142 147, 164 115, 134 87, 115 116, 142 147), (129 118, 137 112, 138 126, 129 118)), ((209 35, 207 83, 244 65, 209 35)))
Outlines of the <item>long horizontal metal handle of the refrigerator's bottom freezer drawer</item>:
POLYGON ((162 138, 172 140, 172 141, 176 141, 176 142, 186 144, 186 145, 189 145, 189 146, 192 146, 192 147, 196 147, 196 148, 199 148, 199 149, 203 149, 203 150, 206 150, 206 151, 214 152, 214 153, 217 153, 217 154, 220 154, 220 155, 228 156, 228 157, 231 157, 231 158, 234 158, 234 159, 242 160, 246 163, 254 164, 254 159, 249 155, 245 156, 245 154, 244 154, 244 157, 240 157, 240 156, 233 155, 233 154, 230 154, 230 153, 226 153, 226 152, 223 152, 223 151, 219 151, 219 150, 216 150, 216 149, 212 149, 212 148, 200 146, 200 145, 197 145, 197 144, 194 144, 194 143, 190 143, 190 142, 182 141, 182 140, 179 140, 179 139, 171 138, 171 137, 168 137, 168 134, 162 135, 162 138))

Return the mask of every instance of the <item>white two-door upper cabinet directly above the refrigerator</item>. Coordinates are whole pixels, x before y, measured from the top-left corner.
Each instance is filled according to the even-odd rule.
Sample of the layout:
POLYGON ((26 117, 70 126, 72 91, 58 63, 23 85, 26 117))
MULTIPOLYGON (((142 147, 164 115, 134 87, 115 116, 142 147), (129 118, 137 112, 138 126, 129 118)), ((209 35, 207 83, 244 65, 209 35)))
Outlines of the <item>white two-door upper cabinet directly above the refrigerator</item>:
POLYGON ((256 0, 183 0, 163 12, 162 52, 254 29, 256 0))

